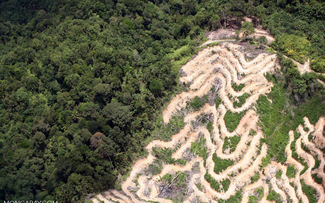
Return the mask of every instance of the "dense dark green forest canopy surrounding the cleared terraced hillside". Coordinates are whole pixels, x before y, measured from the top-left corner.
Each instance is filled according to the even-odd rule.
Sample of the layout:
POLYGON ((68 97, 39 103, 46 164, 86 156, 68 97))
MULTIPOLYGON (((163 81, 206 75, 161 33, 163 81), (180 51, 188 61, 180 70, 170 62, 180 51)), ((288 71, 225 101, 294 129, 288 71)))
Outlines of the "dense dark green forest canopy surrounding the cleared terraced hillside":
MULTIPOLYGON (((114 187, 180 91, 182 58, 246 16, 325 72, 322 1, 2 1, 0 200, 84 202, 114 187)), ((311 79, 296 79, 292 97, 312 97, 311 79)))

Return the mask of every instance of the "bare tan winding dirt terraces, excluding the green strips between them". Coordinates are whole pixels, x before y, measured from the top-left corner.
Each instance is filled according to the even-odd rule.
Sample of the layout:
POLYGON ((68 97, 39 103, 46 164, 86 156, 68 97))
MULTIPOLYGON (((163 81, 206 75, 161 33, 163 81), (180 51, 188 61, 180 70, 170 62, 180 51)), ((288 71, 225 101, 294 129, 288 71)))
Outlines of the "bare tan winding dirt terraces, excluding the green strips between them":
MULTIPOLYGON (((262 35, 262 32, 258 34, 262 35)), ((269 36, 268 36, 269 37, 269 36)), ((268 40, 271 40, 268 38, 268 40)), ((290 141, 286 148, 287 163, 277 163, 272 160, 266 167, 261 168, 262 159, 267 155, 267 146, 260 145, 260 139, 264 137, 258 127, 258 116, 254 110, 254 103, 259 95, 269 93, 273 84, 266 80, 266 73, 273 72, 279 68, 275 54, 261 51, 256 57, 247 61, 245 47, 232 41, 224 41, 219 45, 201 50, 192 60, 182 67, 182 83, 188 85, 188 91, 180 93, 170 102, 163 111, 163 120, 168 123, 170 118, 182 111, 188 101, 195 96, 199 98, 207 95, 211 88, 218 84, 218 96, 222 102, 218 107, 215 104, 205 104, 199 111, 189 112, 184 117, 185 126, 172 136, 170 141, 154 140, 146 146, 149 155, 138 160, 132 167, 129 177, 122 183, 122 191, 109 190, 98 194, 92 199, 93 202, 173 202, 169 198, 163 198, 163 188, 159 186, 162 177, 169 173, 174 178, 180 172, 189 172, 187 180, 187 193, 182 202, 218 202, 234 196, 238 191, 241 193, 241 202, 248 202, 251 196, 256 195, 256 189, 263 188, 263 197, 258 198, 260 202, 268 202, 266 199, 271 189, 279 194, 282 202, 308 202, 306 194, 302 191, 301 179, 304 183, 312 186, 317 191, 318 202, 325 202, 324 193, 324 154, 321 148, 324 147, 324 117, 313 126, 305 118, 305 126, 299 126, 296 130, 300 137, 295 140, 295 148, 298 156, 303 158, 308 169, 303 174, 300 172, 304 166, 292 158, 291 143, 294 141, 293 131, 289 133, 290 141), (240 91, 235 91, 232 83, 244 84, 240 91), (241 95, 248 94, 246 101, 241 107, 234 106, 234 101, 241 95), (236 129, 232 132, 227 130, 224 116, 230 110, 232 112, 245 112, 236 129), (213 131, 210 133, 206 125, 193 126, 204 114, 212 115, 213 131), (252 130, 255 133, 250 133, 252 130), (313 133, 313 139, 308 139, 309 133, 313 133), (234 150, 223 150, 226 138, 240 136, 240 141, 234 150), (192 154, 186 159, 185 165, 164 164, 157 175, 147 174, 144 171, 149 164, 157 159, 153 154, 154 147, 174 149, 172 158, 182 159, 188 155, 192 142, 198 139, 205 139, 207 148, 207 159, 204 161, 197 154, 192 154), (310 151, 307 153, 301 147, 303 143, 310 151), (316 144, 315 144, 316 143, 316 144), (214 156, 221 160, 231 160, 232 165, 221 172, 214 172, 214 156), (316 169, 315 157, 319 160, 319 167, 316 169), (289 165, 295 168, 295 175, 288 178, 286 175, 289 165), (313 169, 314 168, 314 169, 313 169), (193 172, 194 171, 194 172, 193 172), (262 172, 263 171, 263 172, 262 172), (280 178, 275 174, 282 171, 280 178), (222 186, 216 191, 204 177, 208 173, 216 182, 230 180, 227 190, 222 186), (322 179, 322 184, 316 183, 312 174, 317 174, 322 179), (251 177, 259 174, 257 181, 252 182, 251 177)), ((221 184, 220 184, 221 185, 221 184)))

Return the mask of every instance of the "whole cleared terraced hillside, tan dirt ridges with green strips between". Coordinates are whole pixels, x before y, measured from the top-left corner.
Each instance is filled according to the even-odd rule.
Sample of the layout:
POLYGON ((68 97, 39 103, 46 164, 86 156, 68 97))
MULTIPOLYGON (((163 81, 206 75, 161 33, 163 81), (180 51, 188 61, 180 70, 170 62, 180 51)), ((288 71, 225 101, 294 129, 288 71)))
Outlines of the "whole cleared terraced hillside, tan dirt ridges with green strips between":
POLYGON ((247 49, 220 42, 184 65, 180 81, 188 91, 163 111, 166 124, 186 112, 184 127, 150 142, 122 191, 93 202, 324 202, 324 117, 315 126, 305 117, 290 131, 286 163, 267 154, 254 105, 271 91, 266 74, 279 64, 275 54, 247 49))

